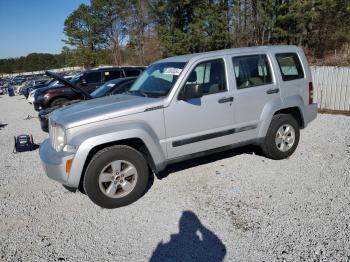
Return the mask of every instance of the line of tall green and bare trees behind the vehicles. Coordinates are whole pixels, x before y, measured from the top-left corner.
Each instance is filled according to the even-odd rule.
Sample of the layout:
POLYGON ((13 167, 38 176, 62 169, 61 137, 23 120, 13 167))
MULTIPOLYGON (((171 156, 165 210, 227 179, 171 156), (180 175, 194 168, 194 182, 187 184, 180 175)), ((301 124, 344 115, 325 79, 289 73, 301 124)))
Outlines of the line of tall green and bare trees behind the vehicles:
POLYGON ((350 64, 350 1, 91 0, 67 17, 64 33, 66 46, 50 60, 64 65, 148 65, 273 44, 301 46, 312 63, 350 64))

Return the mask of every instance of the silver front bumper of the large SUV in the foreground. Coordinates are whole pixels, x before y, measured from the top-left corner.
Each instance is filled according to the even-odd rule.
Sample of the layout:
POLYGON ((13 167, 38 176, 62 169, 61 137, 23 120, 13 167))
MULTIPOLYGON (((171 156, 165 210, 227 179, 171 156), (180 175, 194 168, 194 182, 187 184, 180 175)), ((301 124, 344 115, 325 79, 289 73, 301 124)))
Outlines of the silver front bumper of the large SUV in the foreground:
POLYGON ((50 140, 46 139, 39 148, 41 163, 44 167, 46 175, 61 184, 70 185, 68 182, 69 174, 66 173, 66 161, 74 158, 74 154, 64 152, 56 152, 50 145, 50 140))

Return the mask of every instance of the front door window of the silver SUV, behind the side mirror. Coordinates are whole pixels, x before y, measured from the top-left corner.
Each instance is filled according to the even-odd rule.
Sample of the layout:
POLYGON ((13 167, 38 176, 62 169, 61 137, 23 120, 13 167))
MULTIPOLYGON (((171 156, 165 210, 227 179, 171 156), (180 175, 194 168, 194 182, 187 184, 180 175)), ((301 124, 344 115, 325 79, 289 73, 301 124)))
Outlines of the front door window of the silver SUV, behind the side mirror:
POLYGON ((203 95, 226 91, 224 61, 216 59, 198 64, 189 75, 186 85, 200 85, 203 95))

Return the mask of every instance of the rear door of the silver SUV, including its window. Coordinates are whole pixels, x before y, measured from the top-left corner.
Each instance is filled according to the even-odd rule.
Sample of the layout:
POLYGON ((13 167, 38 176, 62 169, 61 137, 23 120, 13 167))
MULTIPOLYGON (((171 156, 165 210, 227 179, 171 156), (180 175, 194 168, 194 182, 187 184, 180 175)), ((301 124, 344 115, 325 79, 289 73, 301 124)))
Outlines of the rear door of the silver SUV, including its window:
POLYGON ((265 53, 231 57, 235 81, 235 123, 244 132, 239 140, 258 135, 261 114, 268 104, 281 103, 279 83, 273 71, 271 57, 265 53))

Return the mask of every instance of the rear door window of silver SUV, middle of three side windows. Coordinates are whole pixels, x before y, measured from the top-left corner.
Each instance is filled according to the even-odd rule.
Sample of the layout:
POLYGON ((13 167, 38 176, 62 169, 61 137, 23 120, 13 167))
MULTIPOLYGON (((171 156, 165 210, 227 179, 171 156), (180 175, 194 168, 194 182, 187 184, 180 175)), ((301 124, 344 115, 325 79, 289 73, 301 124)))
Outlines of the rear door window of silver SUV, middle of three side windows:
POLYGON ((266 55, 237 56, 232 58, 237 89, 272 83, 269 61, 266 55))

